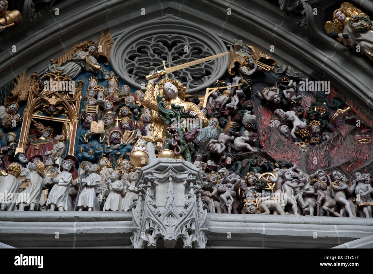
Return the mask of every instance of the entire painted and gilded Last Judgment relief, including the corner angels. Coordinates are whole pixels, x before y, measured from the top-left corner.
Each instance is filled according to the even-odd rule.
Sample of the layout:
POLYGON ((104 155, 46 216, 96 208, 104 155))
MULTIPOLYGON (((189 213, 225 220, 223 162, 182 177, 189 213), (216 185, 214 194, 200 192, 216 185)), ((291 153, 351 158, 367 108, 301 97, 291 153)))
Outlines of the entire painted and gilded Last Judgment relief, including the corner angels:
MULTIPOLYGON (((372 58, 371 22, 361 10, 343 3, 325 29, 372 58)), ((55 56, 44 73, 25 70, 3 87, 1 211, 135 214, 154 181, 144 175, 139 185, 141 169, 171 158, 199 170, 203 183, 188 177, 185 194, 198 197, 201 210, 372 217, 373 121, 333 83, 235 40, 217 56, 191 46, 182 67, 148 64, 136 89, 112 71, 113 43, 108 29, 55 56), (217 58, 228 60, 225 75, 188 93, 182 82, 207 76, 186 79, 177 70, 217 58)))

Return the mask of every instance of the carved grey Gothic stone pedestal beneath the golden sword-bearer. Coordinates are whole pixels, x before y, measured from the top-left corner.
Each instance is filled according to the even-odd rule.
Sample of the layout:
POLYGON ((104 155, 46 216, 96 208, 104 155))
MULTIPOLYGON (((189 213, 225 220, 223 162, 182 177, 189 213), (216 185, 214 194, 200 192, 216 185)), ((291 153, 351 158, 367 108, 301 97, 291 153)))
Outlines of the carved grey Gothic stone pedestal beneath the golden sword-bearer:
POLYGON ((205 248, 207 210, 195 166, 158 158, 142 168, 136 185, 140 193, 132 208, 134 248, 156 248, 162 239, 166 248, 174 248, 180 240, 184 248, 205 248))

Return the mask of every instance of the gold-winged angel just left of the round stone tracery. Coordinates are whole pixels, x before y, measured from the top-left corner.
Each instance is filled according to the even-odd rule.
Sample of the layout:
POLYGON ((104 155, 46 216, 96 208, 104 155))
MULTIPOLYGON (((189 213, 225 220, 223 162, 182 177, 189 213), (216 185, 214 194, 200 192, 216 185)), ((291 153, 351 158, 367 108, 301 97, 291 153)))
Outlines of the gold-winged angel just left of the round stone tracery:
POLYGON ((97 59, 103 57, 104 64, 107 66, 110 61, 110 51, 113 43, 114 40, 110 30, 106 34, 102 31, 97 44, 92 40, 76 44, 60 57, 50 59, 51 63, 45 72, 61 70, 62 75, 68 74, 72 79, 78 76, 83 69, 93 73, 97 73, 99 70, 102 73, 108 73, 98 64, 97 59))

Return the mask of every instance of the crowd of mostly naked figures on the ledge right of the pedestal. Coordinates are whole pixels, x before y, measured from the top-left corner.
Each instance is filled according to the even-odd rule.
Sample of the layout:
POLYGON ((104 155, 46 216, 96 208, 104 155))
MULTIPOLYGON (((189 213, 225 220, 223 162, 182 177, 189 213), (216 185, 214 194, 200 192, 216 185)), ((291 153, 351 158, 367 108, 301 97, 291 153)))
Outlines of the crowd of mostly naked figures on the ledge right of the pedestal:
POLYGON ((317 170, 308 175, 294 164, 261 174, 249 172, 244 179, 226 169, 200 174, 209 212, 372 218, 370 173, 355 172, 348 178, 338 170, 317 170))

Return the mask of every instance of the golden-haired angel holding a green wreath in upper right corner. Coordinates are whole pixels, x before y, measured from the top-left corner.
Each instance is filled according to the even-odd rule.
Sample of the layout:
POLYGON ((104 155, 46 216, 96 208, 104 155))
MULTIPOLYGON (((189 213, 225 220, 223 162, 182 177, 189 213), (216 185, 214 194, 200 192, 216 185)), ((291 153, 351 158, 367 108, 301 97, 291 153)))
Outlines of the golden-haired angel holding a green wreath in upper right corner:
POLYGON ((333 22, 327 21, 325 31, 345 46, 360 46, 360 52, 373 61, 372 22, 364 12, 353 4, 344 2, 333 12, 333 22))

